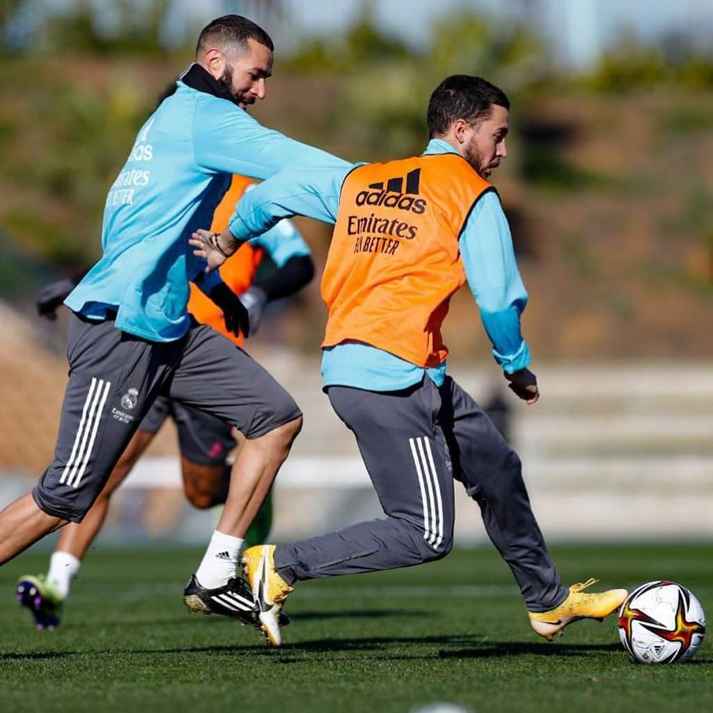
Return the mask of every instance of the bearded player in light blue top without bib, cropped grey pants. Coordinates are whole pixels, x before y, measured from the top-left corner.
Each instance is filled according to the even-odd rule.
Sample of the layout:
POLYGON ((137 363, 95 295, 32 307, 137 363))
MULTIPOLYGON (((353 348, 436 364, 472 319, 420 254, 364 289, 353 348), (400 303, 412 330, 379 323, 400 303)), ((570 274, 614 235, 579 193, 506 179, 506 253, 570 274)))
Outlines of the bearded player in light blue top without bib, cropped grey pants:
POLYGON ((247 334, 247 312, 188 237, 210 223, 232 174, 265 179, 284 168, 346 165, 267 129, 245 108, 265 98, 272 40, 228 15, 198 39, 195 63, 140 129, 109 190, 103 255, 71 292, 69 380, 51 465, 0 512, 0 563, 68 522, 81 522, 157 396, 236 426, 245 444, 215 533, 184 593, 191 610, 220 605, 254 623, 235 574, 248 525, 302 426, 287 391, 228 339, 191 319, 189 282, 247 334))

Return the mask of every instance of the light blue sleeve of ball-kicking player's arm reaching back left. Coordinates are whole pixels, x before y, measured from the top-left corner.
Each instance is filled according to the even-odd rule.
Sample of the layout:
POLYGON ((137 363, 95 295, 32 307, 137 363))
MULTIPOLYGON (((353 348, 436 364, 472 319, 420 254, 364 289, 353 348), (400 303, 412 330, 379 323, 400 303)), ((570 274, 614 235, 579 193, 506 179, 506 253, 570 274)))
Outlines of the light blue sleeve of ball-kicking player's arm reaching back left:
POLYGON ((245 241, 293 215, 334 223, 342 183, 352 168, 354 165, 278 173, 243 195, 228 229, 237 240, 245 241))

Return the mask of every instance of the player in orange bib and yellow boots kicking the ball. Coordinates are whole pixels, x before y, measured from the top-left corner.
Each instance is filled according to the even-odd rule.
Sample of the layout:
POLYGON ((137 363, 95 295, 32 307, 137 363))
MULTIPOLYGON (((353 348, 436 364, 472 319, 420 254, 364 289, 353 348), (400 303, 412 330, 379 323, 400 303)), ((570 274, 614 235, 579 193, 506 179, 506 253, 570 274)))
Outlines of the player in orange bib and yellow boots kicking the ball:
POLYGON ((441 323, 467 281, 510 388, 538 400, 520 333, 528 296, 491 172, 506 158, 509 101, 479 77, 446 78, 429 102, 429 144, 414 158, 309 174, 286 170, 246 195, 220 235, 193 234, 209 270, 275 221, 334 223, 322 279, 329 309, 324 390, 356 436, 386 517, 287 545, 246 550, 242 562, 262 630, 279 645, 279 612, 300 580, 437 560, 453 545, 453 481, 481 509, 535 632, 601 619, 625 590, 563 587, 530 508, 520 459, 469 394, 446 374, 441 323))

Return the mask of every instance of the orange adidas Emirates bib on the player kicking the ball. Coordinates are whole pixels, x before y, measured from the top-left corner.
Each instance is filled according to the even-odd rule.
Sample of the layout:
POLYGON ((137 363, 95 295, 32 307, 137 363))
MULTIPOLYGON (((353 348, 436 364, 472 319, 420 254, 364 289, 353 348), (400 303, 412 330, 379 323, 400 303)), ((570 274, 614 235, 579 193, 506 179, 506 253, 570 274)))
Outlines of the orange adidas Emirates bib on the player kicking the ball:
POLYGON ((441 324, 466 280, 458 238, 486 190, 451 153, 349 173, 322 278, 322 346, 364 342, 425 367, 446 359, 441 324))

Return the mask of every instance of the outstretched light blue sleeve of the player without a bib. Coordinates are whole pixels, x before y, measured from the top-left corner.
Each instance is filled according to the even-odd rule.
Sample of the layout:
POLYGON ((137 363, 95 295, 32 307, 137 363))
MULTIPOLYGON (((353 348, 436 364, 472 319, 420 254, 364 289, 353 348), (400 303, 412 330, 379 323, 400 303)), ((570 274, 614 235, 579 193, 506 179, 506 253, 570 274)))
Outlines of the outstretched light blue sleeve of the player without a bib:
POLYGON ((201 96, 193 116, 195 162, 207 172, 270 178, 285 168, 341 168, 347 161, 265 128, 238 106, 201 96), (215 103, 220 102, 216 108, 215 103), (218 111, 220 110, 220 111, 218 111))

